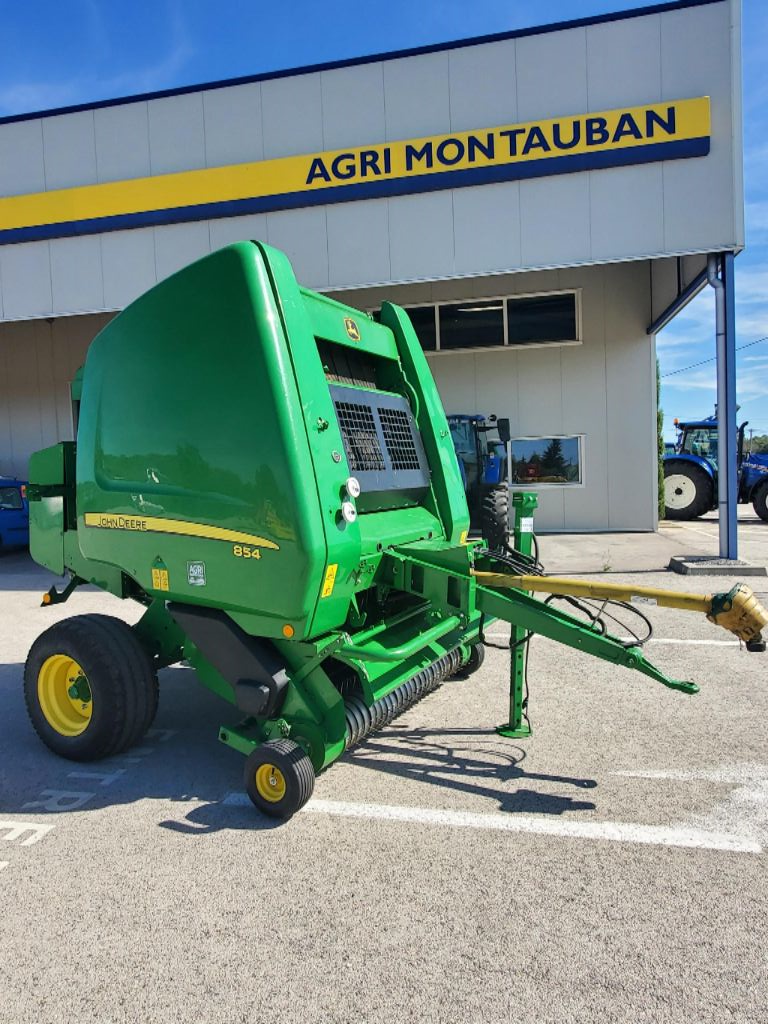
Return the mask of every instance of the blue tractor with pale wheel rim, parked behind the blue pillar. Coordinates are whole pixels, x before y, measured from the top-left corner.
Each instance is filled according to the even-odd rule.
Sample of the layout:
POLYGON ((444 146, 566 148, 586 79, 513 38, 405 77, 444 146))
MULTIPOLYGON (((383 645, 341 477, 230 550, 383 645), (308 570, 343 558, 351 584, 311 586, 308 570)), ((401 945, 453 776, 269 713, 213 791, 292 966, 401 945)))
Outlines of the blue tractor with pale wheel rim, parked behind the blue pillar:
MULTIPOLYGON (((680 423, 676 443, 664 456, 664 501, 668 519, 695 519, 717 508, 718 421, 680 423)), ((752 502, 757 514, 768 522, 768 455, 744 454, 744 428, 738 428, 738 501, 752 502)))

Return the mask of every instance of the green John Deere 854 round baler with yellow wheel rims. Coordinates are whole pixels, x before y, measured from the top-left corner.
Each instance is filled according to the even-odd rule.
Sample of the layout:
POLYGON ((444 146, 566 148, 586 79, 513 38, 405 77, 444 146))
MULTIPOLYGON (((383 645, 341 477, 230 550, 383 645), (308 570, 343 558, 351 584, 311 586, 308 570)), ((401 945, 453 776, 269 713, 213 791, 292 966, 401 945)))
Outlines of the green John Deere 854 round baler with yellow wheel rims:
MULTIPOLYGON (((66 618, 33 644, 27 705, 52 751, 85 761, 129 748, 155 716, 157 670, 186 659, 234 707, 219 736, 247 755, 252 800, 286 817, 348 746, 476 667, 493 617, 513 627, 505 735, 528 731, 534 633, 695 690, 639 641, 610 636, 599 612, 531 596, 583 609, 595 590, 538 574, 531 496, 515 497, 514 552, 467 543, 416 334, 390 303, 380 319, 299 288, 285 256, 240 243, 152 289, 93 341, 73 388, 77 441, 32 459, 32 553, 70 575, 44 604, 92 583, 146 610, 133 628, 66 618)), ((768 615, 746 588, 655 596, 764 647, 768 615)))

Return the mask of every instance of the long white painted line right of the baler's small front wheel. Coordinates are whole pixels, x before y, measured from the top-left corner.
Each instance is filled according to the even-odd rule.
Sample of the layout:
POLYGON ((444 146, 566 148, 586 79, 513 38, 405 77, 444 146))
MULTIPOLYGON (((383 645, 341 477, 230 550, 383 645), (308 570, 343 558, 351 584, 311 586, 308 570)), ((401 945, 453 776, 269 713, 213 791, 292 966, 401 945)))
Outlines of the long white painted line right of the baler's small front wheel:
MULTIPOLYGON (((230 807, 251 807, 244 793, 231 793, 223 801, 230 807)), ((759 843, 731 833, 630 821, 564 821, 534 815, 477 814, 470 811, 436 810, 428 807, 397 807, 389 804, 353 804, 340 800, 310 800, 302 814, 335 814, 347 818, 371 818, 450 828, 480 828, 490 831, 527 833, 562 839, 604 840, 609 843, 640 843, 646 846, 690 847, 728 853, 762 853, 759 843)))

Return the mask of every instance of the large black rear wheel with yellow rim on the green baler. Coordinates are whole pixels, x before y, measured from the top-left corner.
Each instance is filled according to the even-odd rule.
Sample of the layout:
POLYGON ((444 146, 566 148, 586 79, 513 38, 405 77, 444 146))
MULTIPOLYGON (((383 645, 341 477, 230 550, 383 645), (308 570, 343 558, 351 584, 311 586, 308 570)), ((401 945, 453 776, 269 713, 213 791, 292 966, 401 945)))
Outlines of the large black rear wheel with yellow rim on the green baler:
POLYGON ((38 736, 70 761, 122 754, 146 732, 158 708, 146 651, 130 626, 111 615, 75 615, 41 634, 27 658, 24 690, 38 736), (70 696, 68 703, 67 684, 77 670, 74 685, 84 678, 87 696, 70 696))

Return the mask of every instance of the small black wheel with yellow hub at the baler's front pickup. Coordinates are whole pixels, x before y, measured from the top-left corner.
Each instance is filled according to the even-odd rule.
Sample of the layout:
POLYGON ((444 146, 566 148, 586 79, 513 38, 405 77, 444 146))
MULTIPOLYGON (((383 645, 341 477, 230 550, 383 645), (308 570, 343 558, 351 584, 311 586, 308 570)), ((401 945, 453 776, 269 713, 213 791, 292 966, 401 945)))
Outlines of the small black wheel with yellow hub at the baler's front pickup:
POLYGON ((290 818, 314 790, 312 762, 292 739, 269 739, 252 751, 244 778, 252 802, 273 818, 290 818))

